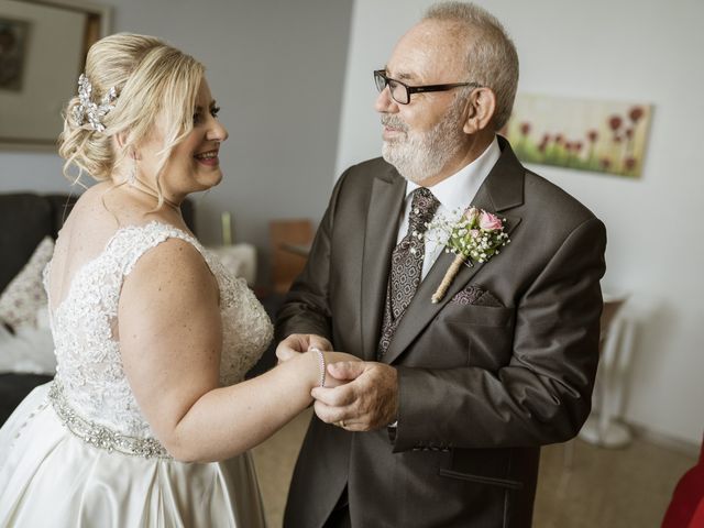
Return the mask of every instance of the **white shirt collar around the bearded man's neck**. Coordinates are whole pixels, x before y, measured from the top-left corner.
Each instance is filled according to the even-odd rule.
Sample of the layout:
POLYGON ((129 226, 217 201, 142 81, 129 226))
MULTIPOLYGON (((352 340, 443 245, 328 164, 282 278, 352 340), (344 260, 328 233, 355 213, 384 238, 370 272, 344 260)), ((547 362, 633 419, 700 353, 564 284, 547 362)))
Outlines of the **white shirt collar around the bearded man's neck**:
MULTIPOLYGON (((494 141, 490 143, 476 160, 462 167, 452 176, 430 187, 432 195, 448 211, 466 209, 472 204, 476 191, 501 155, 502 151, 498 146, 498 140, 496 135, 494 135, 494 141)), ((406 198, 418 187, 420 186, 413 182, 407 182, 406 198)))

